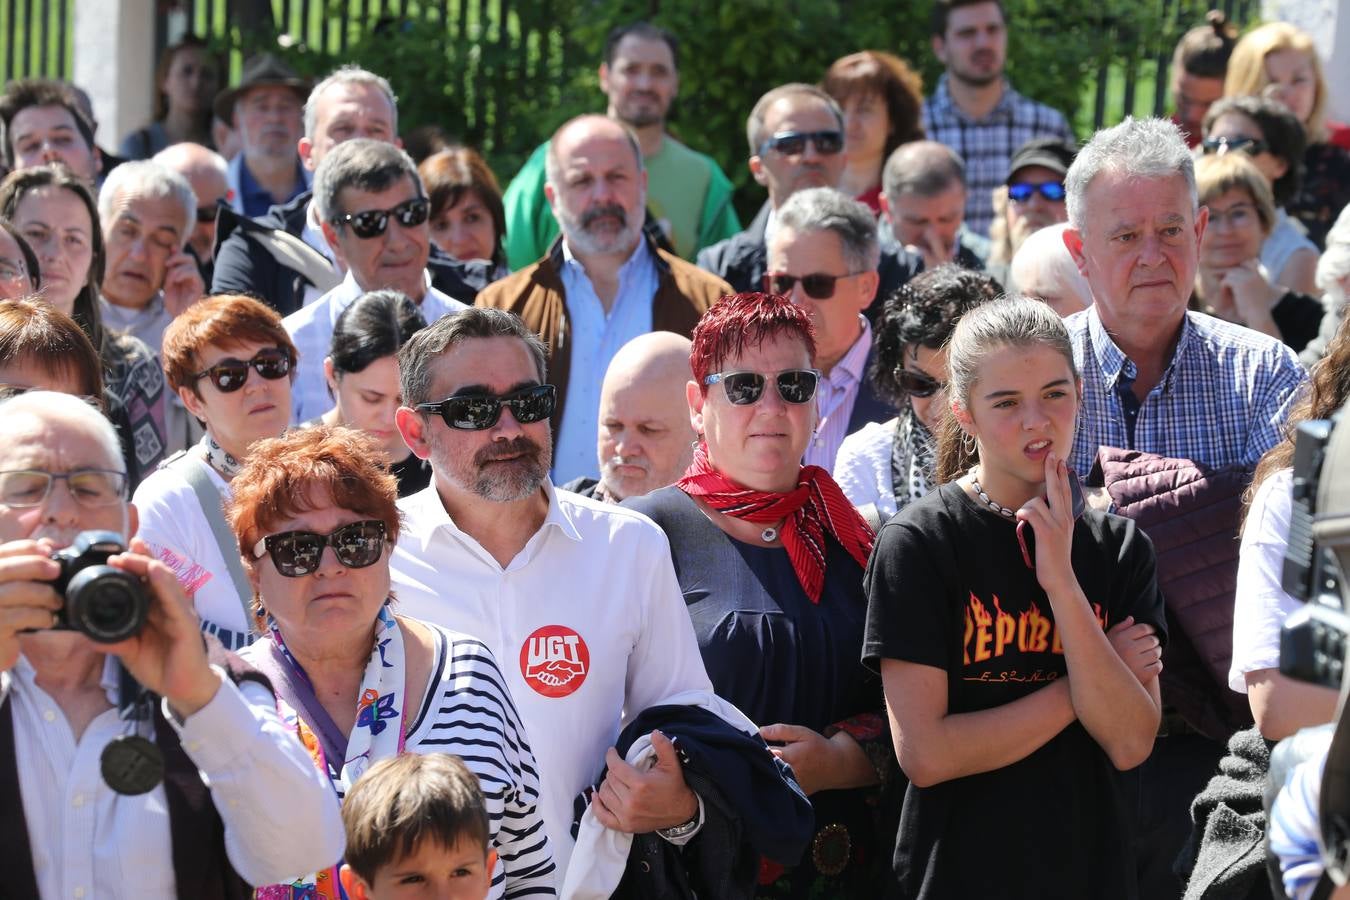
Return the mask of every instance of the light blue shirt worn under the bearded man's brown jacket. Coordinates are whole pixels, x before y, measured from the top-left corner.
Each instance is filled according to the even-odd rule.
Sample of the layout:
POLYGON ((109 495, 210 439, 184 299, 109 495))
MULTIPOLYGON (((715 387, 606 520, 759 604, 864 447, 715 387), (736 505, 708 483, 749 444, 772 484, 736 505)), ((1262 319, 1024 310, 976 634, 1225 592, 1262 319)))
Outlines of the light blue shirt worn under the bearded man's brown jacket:
POLYGON ((599 432, 599 389, 618 349, 652 331, 652 298, 660 286, 647 239, 618 270, 618 291, 609 310, 563 239, 563 298, 571 320, 572 348, 567 364, 567 399, 554 439, 554 480, 599 478, 595 439, 599 432))

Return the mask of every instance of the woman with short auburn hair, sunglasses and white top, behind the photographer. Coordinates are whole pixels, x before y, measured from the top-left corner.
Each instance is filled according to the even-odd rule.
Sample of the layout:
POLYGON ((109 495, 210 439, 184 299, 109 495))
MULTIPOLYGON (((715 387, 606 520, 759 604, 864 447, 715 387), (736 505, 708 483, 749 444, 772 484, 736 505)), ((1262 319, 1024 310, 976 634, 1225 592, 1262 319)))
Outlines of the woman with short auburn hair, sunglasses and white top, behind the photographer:
POLYGON ((252 445, 290 424, 294 363, 281 317, 248 297, 204 300, 165 331, 165 375, 205 433, 136 488, 138 534, 178 575, 202 630, 231 650, 255 629, 224 503, 252 445))

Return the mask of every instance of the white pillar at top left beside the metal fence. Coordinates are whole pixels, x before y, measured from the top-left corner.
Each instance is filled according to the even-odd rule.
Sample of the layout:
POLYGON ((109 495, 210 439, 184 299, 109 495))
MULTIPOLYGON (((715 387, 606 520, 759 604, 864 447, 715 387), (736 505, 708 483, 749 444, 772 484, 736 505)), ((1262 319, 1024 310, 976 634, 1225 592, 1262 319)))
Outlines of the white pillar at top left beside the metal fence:
POLYGON ((76 0, 74 82, 89 92, 112 152, 154 111, 155 0, 76 0))

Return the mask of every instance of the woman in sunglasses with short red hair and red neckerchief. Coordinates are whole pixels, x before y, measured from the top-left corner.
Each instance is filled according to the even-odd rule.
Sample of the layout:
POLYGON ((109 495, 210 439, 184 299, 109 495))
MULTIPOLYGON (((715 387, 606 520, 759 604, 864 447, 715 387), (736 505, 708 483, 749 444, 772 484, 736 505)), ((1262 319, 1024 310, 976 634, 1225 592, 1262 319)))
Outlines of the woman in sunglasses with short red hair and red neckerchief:
POLYGON ((756 896, 872 897, 876 788, 895 768, 880 684, 859 664, 872 532, 829 472, 802 466, 814 354, 810 318, 786 297, 724 297, 694 329, 694 463, 624 505, 670 537, 717 694, 764 726, 815 808, 810 854, 788 870, 765 862, 756 896))

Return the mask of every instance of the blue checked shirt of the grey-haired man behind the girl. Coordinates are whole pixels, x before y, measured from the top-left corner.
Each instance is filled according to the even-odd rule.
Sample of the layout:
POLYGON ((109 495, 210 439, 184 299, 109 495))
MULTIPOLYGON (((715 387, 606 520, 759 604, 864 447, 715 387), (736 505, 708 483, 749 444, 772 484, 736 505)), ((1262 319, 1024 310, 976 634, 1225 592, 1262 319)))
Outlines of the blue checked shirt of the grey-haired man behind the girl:
POLYGON ((1135 403, 1126 394, 1138 370, 1107 335, 1096 306, 1073 313, 1065 325, 1083 372, 1069 461, 1084 476, 1102 447, 1211 467, 1256 466, 1284 437, 1289 406, 1307 381, 1299 358, 1274 337, 1188 312, 1161 381, 1135 403))

